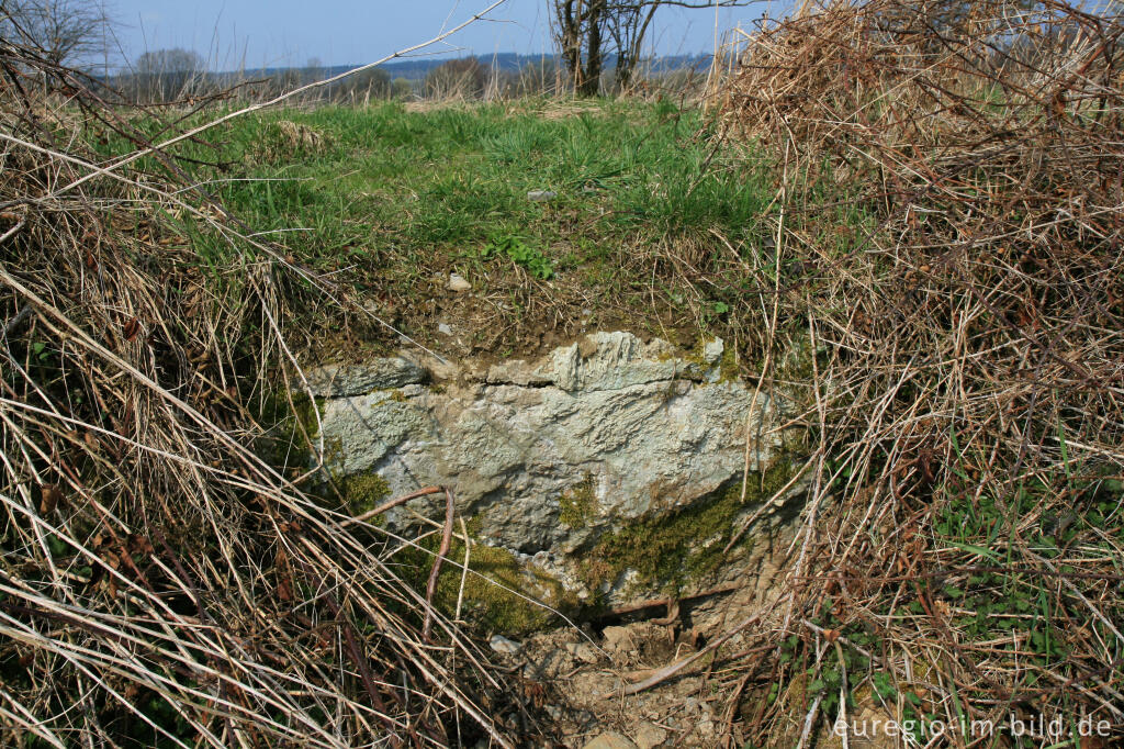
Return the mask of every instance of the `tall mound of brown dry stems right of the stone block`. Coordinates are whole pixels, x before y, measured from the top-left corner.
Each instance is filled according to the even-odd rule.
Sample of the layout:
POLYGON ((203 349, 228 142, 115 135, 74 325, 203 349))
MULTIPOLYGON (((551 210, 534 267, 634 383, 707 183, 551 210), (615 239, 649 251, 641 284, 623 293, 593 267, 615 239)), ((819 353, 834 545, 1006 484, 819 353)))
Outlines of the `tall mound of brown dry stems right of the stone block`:
POLYGON ((722 129, 782 175, 780 283, 756 278, 767 341, 805 330, 786 377, 818 442, 792 616, 762 635, 805 646, 743 665, 779 684, 755 743, 835 718, 800 685, 836 651, 800 622, 876 638, 869 669, 952 724, 1121 723, 1122 71, 1121 19, 1062 2, 828 2, 746 38, 722 129))

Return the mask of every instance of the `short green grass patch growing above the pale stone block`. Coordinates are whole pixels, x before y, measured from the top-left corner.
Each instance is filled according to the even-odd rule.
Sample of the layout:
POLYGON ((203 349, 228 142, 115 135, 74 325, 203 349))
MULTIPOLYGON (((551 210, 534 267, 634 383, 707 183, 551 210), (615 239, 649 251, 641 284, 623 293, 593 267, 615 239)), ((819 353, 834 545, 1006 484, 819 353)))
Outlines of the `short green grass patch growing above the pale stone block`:
MULTIPOLYGON (((435 340, 438 279, 455 271, 489 304, 438 305, 443 319, 475 330, 474 348, 526 350, 590 313, 602 325, 698 331, 743 305, 772 188, 706 133, 698 109, 667 102, 561 116, 545 100, 381 103, 243 118, 216 136, 217 156, 201 144, 179 155, 214 164, 189 169, 255 233, 378 300, 411 336, 435 340), (556 197, 537 202, 534 190, 556 197)), ((194 242, 216 268, 229 251, 194 242)))

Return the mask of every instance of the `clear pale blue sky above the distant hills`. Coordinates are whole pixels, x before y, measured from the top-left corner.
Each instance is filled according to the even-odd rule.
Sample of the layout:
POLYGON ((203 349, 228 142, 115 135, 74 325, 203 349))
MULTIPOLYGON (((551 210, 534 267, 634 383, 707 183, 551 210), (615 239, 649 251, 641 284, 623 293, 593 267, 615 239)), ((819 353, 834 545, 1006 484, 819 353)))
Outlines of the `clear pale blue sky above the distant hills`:
MULTIPOLYGON (((424 42, 490 4, 488 0, 107 0, 117 19, 120 55, 185 47, 212 69, 359 64, 424 42)), ((750 27, 769 3, 718 11, 719 27, 750 27)), ((776 9, 777 4, 773 6, 776 9)), ((776 10, 771 15, 777 15, 776 10)), ((443 56, 550 51, 547 0, 507 0, 429 53, 443 56)), ((714 10, 667 8, 650 44, 660 54, 709 52, 714 10)))

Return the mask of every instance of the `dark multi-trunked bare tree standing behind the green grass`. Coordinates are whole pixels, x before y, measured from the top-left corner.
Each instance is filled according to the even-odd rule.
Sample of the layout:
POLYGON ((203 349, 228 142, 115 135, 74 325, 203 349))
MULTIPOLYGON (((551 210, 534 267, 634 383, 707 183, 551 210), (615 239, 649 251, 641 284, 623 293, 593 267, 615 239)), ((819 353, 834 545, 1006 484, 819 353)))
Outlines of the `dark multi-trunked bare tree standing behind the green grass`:
POLYGON ((729 8, 752 0, 551 0, 554 39, 574 90, 584 97, 600 91, 605 61, 616 57, 617 85, 632 82, 652 27, 663 7, 729 8))

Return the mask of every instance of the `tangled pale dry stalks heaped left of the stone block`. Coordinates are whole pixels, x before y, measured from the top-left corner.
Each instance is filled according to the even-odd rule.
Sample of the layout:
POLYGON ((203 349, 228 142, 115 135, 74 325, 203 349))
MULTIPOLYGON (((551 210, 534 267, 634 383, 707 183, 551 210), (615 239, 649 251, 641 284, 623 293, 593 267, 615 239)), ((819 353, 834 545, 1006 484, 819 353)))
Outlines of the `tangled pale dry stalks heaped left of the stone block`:
POLYGON ((152 144, 87 84, 0 45, 0 743, 534 736, 387 536, 298 488, 290 305, 352 301, 194 197, 166 153, 193 136, 152 144), (105 129, 137 151, 103 162, 105 129))

